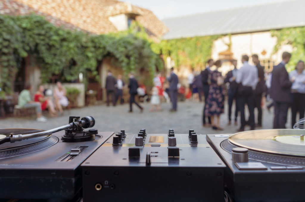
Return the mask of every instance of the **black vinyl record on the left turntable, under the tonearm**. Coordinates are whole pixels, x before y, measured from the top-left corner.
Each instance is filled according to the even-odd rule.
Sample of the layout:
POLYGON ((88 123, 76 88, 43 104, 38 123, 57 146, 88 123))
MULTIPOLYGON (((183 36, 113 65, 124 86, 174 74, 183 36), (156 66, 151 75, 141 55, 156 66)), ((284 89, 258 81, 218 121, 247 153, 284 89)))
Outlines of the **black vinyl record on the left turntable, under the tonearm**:
MULTIPOLYGON (((40 130, 40 129, 28 129, 28 128, 1 128, 0 129, 0 140, 9 136, 11 133, 14 134, 31 134, 31 133, 38 133, 42 132, 45 130, 40 130)), ((30 144, 38 143, 40 141, 46 140, 50 137, 51 135, 47 136, 41 136, 41 137, 35 137, 27 140, 22 140, 14 143, 6 142, 4 144, 0 144, 0 151, 6 150, 6 149, 13 149, 13 148, 20 148, 23 146, 27 146, 30 144)))

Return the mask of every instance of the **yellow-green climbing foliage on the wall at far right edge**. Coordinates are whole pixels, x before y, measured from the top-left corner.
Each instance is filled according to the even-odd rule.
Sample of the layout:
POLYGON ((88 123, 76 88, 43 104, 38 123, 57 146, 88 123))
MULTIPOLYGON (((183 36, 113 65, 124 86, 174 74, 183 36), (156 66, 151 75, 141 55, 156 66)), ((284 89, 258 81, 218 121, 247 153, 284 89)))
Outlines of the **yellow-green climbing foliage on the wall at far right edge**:
POLYGON ((277 37, 274 51, 278 51, 282 45, 291 44, 293 47, 290 62, 286 65, 288 71, 294 70, 296 63, 305 58, 305 27, 286 28, 271 31, 273 37, 277 37))

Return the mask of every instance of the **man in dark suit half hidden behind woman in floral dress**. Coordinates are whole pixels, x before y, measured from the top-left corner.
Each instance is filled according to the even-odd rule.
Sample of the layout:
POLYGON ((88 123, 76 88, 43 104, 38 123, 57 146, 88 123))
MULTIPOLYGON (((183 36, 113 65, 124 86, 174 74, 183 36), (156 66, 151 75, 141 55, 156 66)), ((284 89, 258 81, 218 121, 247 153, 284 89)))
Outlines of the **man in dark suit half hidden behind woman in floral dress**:
POLYGON ((205 115, 205 108, 206 108, 206 100, 208 98, 209 95, 209 89, 210 89, 210 84, 209 84, 209 75, 211 74, 211 70, 210 67, 213 66, 214 61, 213 59, 209 59, 208 60, 208 66, 206 67, 205 70, 201 71, 200 75, 201 75, 201 79, 202 79, 202 84, 203 84, 203 94, 204 94, 204 106, 203 106, 203 126, 210 126, 211 125, 211 117, 208 116, 208 123, 206 124, 206 115, 205 115))

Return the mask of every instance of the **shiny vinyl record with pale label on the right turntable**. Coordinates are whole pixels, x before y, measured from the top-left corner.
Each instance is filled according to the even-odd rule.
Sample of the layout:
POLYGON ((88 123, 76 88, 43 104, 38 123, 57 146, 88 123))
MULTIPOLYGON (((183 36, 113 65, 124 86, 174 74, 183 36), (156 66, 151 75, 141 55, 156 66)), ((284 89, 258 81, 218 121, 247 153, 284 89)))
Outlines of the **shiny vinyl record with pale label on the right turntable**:
POLYGON ((230 143, 250 150, 272 154, 305 156, 305 143, 302 129, 251 130, 231 135, 230 143))

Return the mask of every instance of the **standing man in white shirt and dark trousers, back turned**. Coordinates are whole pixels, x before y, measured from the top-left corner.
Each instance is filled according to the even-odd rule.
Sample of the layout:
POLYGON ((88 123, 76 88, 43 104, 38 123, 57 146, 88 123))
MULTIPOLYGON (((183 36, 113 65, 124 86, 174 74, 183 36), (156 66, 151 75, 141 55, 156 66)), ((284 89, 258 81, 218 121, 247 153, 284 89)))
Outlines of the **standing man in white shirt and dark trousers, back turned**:
POLYGON ((249 56, 242 56, 243 66, 237 71, 236 83, 238 83, 237 102, 240 111, 240 129, 239 132, 245 130, 245 104, 247 103, 249 109, 249 125, 251 130, 255 129, 254 122, 254 90, 258 82, 257 68, 248 63, 249 56))

